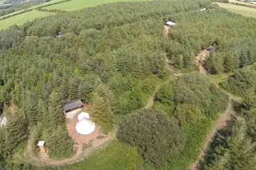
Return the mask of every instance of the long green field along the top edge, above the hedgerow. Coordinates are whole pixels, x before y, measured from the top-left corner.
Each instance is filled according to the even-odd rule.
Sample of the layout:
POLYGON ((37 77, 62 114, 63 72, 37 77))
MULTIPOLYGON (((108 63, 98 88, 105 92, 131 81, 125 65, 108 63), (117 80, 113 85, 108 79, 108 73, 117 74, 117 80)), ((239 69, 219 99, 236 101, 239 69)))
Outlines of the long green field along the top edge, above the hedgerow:
POLYGON ((98 6, 102 3, 111 3, 111 2, 119 2, 119 1, 138 1, 138 0, 72 0, 60 4, 56 4, 53 6, 48 6, 45 9, 47 10, 81 10, 87 7, 98 6))

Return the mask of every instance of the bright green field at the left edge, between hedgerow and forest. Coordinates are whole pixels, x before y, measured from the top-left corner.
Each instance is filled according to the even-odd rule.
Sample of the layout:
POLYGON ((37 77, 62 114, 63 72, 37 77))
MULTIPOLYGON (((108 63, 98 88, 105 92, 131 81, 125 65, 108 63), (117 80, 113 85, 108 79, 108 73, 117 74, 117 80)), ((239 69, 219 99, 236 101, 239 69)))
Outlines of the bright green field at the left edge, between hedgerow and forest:
POLYGON ((15 17, 10 17, 8 19, 3 19, 0 21, 0 30, 9 28, 11 25, 22 25, 27 21, 33 21, 37 18, 46 17, 50 14, 49 12, 41 12, 41 11, 30 11, 24 14, 16 15, 15 17))

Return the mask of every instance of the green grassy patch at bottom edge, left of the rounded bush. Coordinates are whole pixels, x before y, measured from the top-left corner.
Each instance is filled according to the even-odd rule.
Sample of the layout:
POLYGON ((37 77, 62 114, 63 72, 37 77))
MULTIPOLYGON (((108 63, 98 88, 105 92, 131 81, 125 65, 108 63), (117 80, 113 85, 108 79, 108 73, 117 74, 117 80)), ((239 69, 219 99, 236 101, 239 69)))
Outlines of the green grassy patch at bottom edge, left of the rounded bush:
POLYGON ((112 169, 138 169, 143 167, 143 158, 141 158, 136 149, 125 145, 118 140, 114 140, 104 149, 98 149, 94 151, 88 158, 85 158, 82 162, 62 166, 44 168, 44 170, 50 169, 62 169, 62 170, 112 170, 112 169))

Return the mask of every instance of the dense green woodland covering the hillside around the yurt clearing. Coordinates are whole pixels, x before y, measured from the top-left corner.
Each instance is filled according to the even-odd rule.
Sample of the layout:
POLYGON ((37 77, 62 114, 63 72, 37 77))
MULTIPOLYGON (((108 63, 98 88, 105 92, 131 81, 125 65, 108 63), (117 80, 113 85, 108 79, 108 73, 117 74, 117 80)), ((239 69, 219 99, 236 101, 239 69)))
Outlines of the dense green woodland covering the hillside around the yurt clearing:
MULTIPOLYGON (((2 30, 0 106, 8 124, 0 130, 0 169, 38 169, 17 156, 28 138, 33 147, 45 140, 52 159, 72 157, 62 104, 74 98, 91 104, 105 134, 118 129, 104 150, 115 157, 106 169, 187 169, 230 94, 242 98, 232 101, 237 116, 214 137, 200 168, 255 168, 255 28, 256 19, 212 1, 161 0, 60 12, 2 30), (165 36, 169 20, 176 25, 165 36), (217 50, 203 62, 205 76, 195 57, 210 45, 217 50), (210 78, 221 75, 231 76, 210 78), (143 108, 158 85, 153 108, 143 108)), ((44 169, 93 169, 90 161, 44 169)))

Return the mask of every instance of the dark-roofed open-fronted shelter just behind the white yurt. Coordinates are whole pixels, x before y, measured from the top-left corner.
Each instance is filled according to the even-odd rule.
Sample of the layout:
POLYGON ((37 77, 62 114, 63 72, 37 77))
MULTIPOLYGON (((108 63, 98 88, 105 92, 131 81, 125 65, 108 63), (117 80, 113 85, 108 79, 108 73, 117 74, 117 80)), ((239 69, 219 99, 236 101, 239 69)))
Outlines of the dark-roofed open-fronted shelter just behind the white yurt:
POLYGON ((81 113, 82 107, 84 104, 81 100, 69 100, 63 104, 64 115, 66 118, 75 118, 78 114, 81 113))

